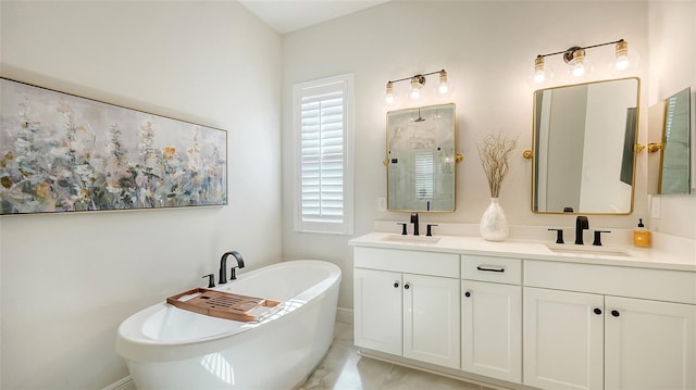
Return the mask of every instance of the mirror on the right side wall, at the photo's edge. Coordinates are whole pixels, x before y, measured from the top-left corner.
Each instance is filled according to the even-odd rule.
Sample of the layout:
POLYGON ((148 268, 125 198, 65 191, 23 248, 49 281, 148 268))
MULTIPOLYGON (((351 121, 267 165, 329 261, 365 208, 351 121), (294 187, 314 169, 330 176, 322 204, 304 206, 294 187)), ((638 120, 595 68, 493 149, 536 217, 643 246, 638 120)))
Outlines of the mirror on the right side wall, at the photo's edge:
POLYGON ((691 192, 691 88, 650 108, 648 192, 691 192))

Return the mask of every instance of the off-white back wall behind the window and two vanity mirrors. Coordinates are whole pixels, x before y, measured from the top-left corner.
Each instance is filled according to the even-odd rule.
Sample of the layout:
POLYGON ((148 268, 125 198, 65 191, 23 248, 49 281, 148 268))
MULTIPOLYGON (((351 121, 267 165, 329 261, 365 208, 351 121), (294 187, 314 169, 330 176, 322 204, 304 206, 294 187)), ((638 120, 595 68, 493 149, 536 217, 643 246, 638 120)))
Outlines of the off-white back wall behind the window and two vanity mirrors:
MULTIPOLYGON (((284 259, 319 257, 341 266, 339 305, 352 307, 351 237, 293 231, 294 83, 352 72, 356 80, 355 235, 373 229, 375 219, 407 222, 405 213, 380 213, 386 193, 385 85, 389 79, 447 70, 455 87, 458 152, 457 211, 423 214, 421 221, 477 224, 489 203, 476 141, 504 130, 519 135, 519 147, 501 191, 513 225, 574 226, 573 216, 531 212, 531 161, 522 151, 532 142, 532 93, 526 84, 534 58, 568 49, 626 39, 647 53, 647 3, 639 1, 391 1, 283 36, 283 198, 284 259), (330 47, 335 47, 330 50, 330 47)), ((587 56, 613 55, 613 47, 591 49, 587 56), (608 54, 607 54, 608 53, 608 54)), ((561 61, 560 56, 552 61, 561 61)), ((548 60, 551 62, 551 59, 548 60)), ((562 62, 561 62, 562 63, 562 62)), ((560 64, 557 73, 561 73, 560 64)), ((564 66, 564 64, 563 64, 564 66)), ((647 65, 638 67, 645 77, 647 65)), ((596 67, 595 79, 612 78, 596 67)), ((428 78, 426 87, 434 84, 428 78)), ((402 88, 406 83, 395 87, 402 88)), ((645 90, 645 84, 642 85, 645 90)), ((645 131, 645 118, 641 118, 645 131)), ((591 226, 635 225, 647 210, 645 175, 637 178, 635 212, 629 216, 591 216, 591 226)), ((549 239, 551 237, 549 236, 549 239)))

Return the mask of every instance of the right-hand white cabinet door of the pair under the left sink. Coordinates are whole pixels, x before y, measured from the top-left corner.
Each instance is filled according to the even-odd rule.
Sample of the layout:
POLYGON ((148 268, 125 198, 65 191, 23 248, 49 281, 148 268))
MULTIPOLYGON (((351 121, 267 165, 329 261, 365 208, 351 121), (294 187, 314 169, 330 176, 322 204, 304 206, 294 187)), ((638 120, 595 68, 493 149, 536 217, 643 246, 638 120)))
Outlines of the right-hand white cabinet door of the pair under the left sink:
POLYGON ((403 356, 459 368, 459 279, 403 274, 403 356))

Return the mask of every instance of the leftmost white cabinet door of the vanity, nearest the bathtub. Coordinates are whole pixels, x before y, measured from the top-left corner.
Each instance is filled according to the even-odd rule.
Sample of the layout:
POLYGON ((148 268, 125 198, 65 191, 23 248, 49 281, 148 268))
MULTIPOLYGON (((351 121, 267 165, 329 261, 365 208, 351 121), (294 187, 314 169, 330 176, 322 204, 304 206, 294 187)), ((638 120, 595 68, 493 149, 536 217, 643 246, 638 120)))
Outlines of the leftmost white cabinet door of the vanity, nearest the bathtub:
POLYGON ((353 287, 356 345, 401 355, 401 274, 356 268, 353 287))

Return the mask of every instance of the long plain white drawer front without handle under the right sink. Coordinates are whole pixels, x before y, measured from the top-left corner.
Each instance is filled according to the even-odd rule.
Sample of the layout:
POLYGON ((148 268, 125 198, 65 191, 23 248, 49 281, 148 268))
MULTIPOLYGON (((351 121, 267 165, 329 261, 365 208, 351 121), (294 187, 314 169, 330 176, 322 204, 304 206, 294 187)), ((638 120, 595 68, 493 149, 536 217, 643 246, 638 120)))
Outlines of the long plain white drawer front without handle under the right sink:
POLYGON ((696 303, 696 273, 685 271, 525 260, 524 285, 696 303))

